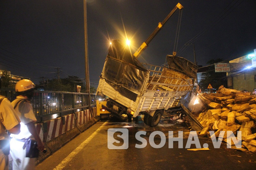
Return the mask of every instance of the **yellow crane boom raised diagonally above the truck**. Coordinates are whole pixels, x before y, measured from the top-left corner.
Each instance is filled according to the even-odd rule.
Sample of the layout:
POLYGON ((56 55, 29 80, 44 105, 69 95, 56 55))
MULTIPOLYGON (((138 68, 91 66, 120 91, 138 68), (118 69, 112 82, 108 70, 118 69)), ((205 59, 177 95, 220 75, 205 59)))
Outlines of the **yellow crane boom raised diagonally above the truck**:
POLYGON ((147 48, 149 42, 157 35, 157 33, 160 31, 160 29, 163 27, 163 25, 169 20, 170 17, 175 13, 177 9, 182 10, 183 6, 178 3, 175 8, 172 9, 172 11, 167 15, 167 17, 163 20, 162 23, 158 23, 157 28, 150 34, 147 40, 140 45, 140 47, 137 49, 137 51, 134 53, 134 57, 138 58, 140 54, 147 48))

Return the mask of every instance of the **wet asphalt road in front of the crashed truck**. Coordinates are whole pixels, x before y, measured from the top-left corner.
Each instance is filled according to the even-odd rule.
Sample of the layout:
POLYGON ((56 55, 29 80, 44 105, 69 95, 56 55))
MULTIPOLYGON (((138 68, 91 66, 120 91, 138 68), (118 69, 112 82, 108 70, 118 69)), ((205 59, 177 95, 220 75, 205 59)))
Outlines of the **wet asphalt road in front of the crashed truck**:
MULTIPOLYGON (((113 122, 100 121, 84 131, 75 139, 61 147, 60 150, 49 156, 37 165, 36 170, 255 170, 256 154, 227 149, 226 144, 215 149, 208 138, 199 138, 201 147, 204 143, 210 150, 189 151, 185 148, 189 130, 184 123, 162 120, 157 127, 144 125, 139 122, 113 122), (108 129, 128 129, 128 149, 108 149, 108 129), (154 131, 162 131, 168 138, 168 131, 173 131, 177 136, 178 131, 183 131, 183 148, 168 148, 169 142, 162 148, 154 148, 149 144, 149 135, 154 131), (146 131, 143 136, 147 141, 144 148, 136 148, 142 144, 135 138, 138 131, 146 131)), ((175 136, 174 135, 174 136, 175 136)), ((122 146, 120 140, 116 146, 122 146)), ((160 136, 154 137, 155 144, 160 144, 160 136)), ((191 148, 196 148, 195 144, 191 148)))

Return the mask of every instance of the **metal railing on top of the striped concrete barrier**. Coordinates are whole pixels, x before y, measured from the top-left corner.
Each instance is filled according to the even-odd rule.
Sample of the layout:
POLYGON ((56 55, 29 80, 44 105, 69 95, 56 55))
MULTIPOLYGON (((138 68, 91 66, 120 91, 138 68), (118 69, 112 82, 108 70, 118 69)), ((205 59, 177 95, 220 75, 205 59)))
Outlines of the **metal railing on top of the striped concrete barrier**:
MULTIPOLYGON (((89 108, 87 93, 35 91, 31 104, 38 120, 55 119, 89 108)), ((96 105, 95 94, 90 94, 91 106, 96 105)))

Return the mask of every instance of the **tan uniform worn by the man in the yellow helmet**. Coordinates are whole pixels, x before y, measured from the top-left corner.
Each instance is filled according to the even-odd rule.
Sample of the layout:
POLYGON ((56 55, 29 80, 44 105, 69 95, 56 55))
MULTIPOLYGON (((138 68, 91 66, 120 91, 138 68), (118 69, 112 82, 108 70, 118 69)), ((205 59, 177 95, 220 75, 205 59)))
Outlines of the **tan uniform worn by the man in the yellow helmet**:
POLYGON ((11 135, 13 137, 10 143, 10 154, 13 159, 12 168, 13 170, 33 170, 35 169, 35 158, 26 158, 26 149, 23 149, 23 145, 25 141, 24 139, 32 138, 32 134, 29 132, 26 124, 36 122, 37 119, 31 103, 26 101, 24 97, 17 96, 12 102, 12 106, 15 107, 17 116, 19 116, 21 121, 20 133, 18 135, 11 135))

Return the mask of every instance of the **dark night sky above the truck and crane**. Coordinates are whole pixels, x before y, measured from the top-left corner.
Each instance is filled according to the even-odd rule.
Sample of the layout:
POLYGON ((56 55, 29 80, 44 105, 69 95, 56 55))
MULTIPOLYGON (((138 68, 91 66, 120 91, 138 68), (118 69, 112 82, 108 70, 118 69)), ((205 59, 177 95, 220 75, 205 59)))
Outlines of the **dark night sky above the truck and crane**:
MULTIPOLYGON (((256 0, 87 0, 91 86, 97 87, 109 39, 131 40, 132 53, 181 3, 177 56, 198 65, 235 59, 256 48, 256 0)), ((162 65, 174 50, 179 11, 139 57, 162 65)), ((85 77, 83 0, 0 0, 0 69, 29 77, 85 77)))

